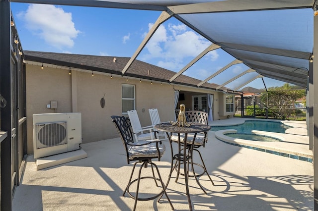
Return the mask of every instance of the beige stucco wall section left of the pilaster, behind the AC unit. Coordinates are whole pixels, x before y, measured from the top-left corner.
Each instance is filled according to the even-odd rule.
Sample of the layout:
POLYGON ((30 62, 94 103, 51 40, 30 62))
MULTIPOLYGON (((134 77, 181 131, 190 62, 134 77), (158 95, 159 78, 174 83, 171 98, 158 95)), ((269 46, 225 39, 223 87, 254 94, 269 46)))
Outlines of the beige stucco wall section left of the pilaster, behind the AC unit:
POLYGON ((51 100, 58 101, 57 112, 71 112, 71 78, 67 71, 26 65, 26 121, 27 152, 33 153, 32 115, 35 113, 54 113, 47 108, 51 100))

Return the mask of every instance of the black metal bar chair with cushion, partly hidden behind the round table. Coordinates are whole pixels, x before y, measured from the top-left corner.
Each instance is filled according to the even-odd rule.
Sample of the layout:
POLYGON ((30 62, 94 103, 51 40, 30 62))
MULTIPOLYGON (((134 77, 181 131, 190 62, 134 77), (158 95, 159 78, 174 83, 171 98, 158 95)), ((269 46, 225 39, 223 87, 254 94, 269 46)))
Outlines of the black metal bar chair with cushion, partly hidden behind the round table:
MULTIPOLYGON (((185 116, 186 116, 188 122, 208 124, 208 113, 207 112, 198 111, 198 110, 190 110, 190 111, 185 111, 185 116)), ((186 147, 186 149, 184 149, 184 150, 189 150, 191 148, 193 138, 194 138, 193 134, 188 134, 187 140, 185 142, 186 144, 184 144, 184 135, 180 136, 181 144, 183 144, 183 146, 186 147)), ((175 134, 171 135, 171 141, 172 142, 178 142, 178 136, 175 135, 175 134)), ((198 154, 199 154, 199 156, 201 158, 202 165, 199 164, 199 163, 193 162, 193 160, 191 160, 190 162, 193 162, 194 165, 198 165, 198 166, 201 166, 203 168, 203 172, 200 173, 200 174, 195 174, 194 169, 192 169, 193 172, 194 172, 193 176, 199 177, 199 176, 203 175, 204 173, 206 173, 208 175, 210 181, 214 185, 214 182, 212 181, 210 175, 207 172, 207 169, 205 167, 205 164, 204 164, 203 158, 201 156, 201 153, 198 150, 198 148, 200 148, 200 147, 205 147, 205 143, 207 141, 208 141, 208 132, 197 134, 197 136, 195 137, 194 145, 193 145, 193 151, 198 152, 198 154)), ((175 166, 177 167, 177 163, 175 164, 175 166)), ((178 171, 178 173, 180 173, 179 172, 179 168, 177 168, 177 171, 178 171)), ((182 175, 182 173, 180 173, 180 174, 182 175)), ((177 178, 176 178, 176 181, 177 181, 177 178)), ((203 190, 203 188, 201 188, 201 189, 203 190)), ((203 191, 205 192, 205 190, 203 190, 203 191)))

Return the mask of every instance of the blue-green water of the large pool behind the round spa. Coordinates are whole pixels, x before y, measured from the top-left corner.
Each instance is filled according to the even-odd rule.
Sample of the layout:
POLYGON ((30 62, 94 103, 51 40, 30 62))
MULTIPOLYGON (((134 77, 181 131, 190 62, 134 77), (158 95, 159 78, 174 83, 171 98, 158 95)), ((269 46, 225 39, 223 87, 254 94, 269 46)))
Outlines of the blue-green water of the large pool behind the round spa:
POLYGON ((281 122, 249 120, 249 121, 245 121, 243 124, 240 124, 240 125, 212 126, 211 130, 218 131, 218 130, 235 129, 238 131, 237 133, 251 134, 251 130, 285 133, 285 131, 288 128, 292 128, 292 127, 287 126, 281 122))

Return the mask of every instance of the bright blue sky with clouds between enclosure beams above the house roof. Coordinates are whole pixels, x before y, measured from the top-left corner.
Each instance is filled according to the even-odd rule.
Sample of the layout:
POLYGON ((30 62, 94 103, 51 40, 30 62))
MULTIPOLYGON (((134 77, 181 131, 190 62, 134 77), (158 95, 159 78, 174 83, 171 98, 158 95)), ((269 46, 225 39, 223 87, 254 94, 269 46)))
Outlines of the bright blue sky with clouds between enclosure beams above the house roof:
MULTIPOLYGON (((11 10, 23 50, 131 57, 160 11, 12 3, 11 10)), ((137 59, 178 72, 211 43, 184 24, 170 18, 160 25, 137 59)), ((206 54, 185 75, 204 80, 235 58, 222 50, 206 54)), ((232 77, 247 70, 229 68, 232 77)), ((222 84, 229 73, 209 83, 222 84)), ((285 82, 264 78, 266 87, 285 82)), ((226 85, 234 89, 235 82, 226 85)), ((263 89, 262 80, 245 85, 263 89)), ((243 88, 243 87, 242 87, 243 88)))

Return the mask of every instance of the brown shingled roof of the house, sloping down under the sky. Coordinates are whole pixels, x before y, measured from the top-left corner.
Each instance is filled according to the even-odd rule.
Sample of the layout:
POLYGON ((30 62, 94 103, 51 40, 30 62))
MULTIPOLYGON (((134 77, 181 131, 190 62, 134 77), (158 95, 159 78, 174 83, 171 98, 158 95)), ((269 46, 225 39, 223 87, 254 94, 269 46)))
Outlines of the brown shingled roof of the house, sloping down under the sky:
MULTIPOLYGON (((122 70, 129 61, 129 57, 118 56, 97 56, 82 55, 71 53, 49 53, 24 51, 24 58, 27 61, 34 61, 46 64, 63 66, 66 68, 77 68, 96 72, 104 72, 113 75, 122 75, 122 70), (114 62, 114 58, 116 61, 114 62)), ((175 72, 152 65, 140 60, 135 60, 124 76, 142 78, 154 81, 169 83, 169 79, 175 75, 175 72)), ((171 84, 182 84, 196 86, 200 80, 185 75, 180 75, 171 84)), ((202 88, 216 90, 217 84, 205 83, 202 88)), ((220 91, 228 91, 228 88, 222 87, 220 91)))

